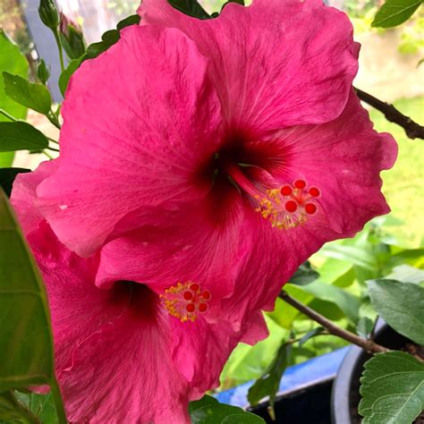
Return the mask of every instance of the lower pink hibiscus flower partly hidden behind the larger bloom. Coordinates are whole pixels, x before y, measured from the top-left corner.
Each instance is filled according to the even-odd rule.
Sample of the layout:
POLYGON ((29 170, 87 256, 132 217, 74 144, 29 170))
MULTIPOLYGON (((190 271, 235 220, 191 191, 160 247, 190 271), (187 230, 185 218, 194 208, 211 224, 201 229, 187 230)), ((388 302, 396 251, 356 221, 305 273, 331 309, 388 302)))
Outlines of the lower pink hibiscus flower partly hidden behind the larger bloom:
POLYGON ((210 293, 196 283, 185 287, 183 305, 172 287, 114 281, 98 288, 98 254, 82 259, 68 250, 34 208, 38 183, 56 168, 53 161, 19 175, 12 201, 47 287, 68 420, 189 423, 189 401, 219 384, 240 340, 262 336, 262 318, 253 313, 240 332, 208 324, 210 293))

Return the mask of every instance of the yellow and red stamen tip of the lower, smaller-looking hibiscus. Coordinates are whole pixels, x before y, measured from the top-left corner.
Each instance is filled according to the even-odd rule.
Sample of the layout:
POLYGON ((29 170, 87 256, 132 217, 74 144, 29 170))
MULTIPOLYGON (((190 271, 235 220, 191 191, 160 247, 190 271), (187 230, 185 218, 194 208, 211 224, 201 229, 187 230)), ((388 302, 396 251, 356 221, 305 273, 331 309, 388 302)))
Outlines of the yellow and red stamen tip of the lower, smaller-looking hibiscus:
POLYGON ((160 295, 167 312, 182 322, 195 321, 198 314, 205 313, 208 301, 212 298, 208 290, 202 290, 200 284, 191 281, 178 283, 160 295))

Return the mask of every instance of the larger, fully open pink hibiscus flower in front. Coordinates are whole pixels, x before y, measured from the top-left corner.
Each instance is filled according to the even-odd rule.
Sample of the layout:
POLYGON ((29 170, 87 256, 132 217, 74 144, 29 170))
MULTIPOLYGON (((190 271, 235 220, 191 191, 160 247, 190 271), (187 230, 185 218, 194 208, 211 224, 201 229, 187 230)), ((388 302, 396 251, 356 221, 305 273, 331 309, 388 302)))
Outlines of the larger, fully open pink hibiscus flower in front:
POLYGON ((207 21, 144 0, 140 14, 72 77, 37 208, 79 255, 107 243, 99 286, 167 287, 181 317, 173 301, 196 282, 205 319, 239 331, 323 243, 389 211, 379 173, 396 146, 352 90, 351 23, 321 0, 207 21))

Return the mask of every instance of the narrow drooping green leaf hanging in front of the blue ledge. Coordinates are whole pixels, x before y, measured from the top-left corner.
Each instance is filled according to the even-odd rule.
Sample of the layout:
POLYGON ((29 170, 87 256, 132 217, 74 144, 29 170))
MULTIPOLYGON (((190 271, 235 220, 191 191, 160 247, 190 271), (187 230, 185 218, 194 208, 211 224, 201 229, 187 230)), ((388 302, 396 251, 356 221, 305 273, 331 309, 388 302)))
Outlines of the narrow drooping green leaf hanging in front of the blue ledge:
POLYGON ((292 343, 283 343, 276 352, 276 357, 269 369, 267 369, 267 372, 256 380, 254 385, 249 389, 248 399, 252 405, 256 405, 261 399, 269 396, 272 416, 274 415, 276 392, 278 386, 280 386, 280 380, 283 377, 284 370, 289 365, 291 352, 292 343))

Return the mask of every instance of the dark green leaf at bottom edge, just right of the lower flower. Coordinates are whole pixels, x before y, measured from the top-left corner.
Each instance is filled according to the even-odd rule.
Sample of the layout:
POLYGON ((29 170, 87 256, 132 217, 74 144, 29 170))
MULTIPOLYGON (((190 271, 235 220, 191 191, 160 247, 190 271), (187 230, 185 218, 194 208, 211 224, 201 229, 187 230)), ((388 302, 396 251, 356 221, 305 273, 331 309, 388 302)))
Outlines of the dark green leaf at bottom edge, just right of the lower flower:
POLYGON ((207 394, 199 401, 191 402, 189 411, 191 424, 265 424, 258 415, 219 403, 207 394))

